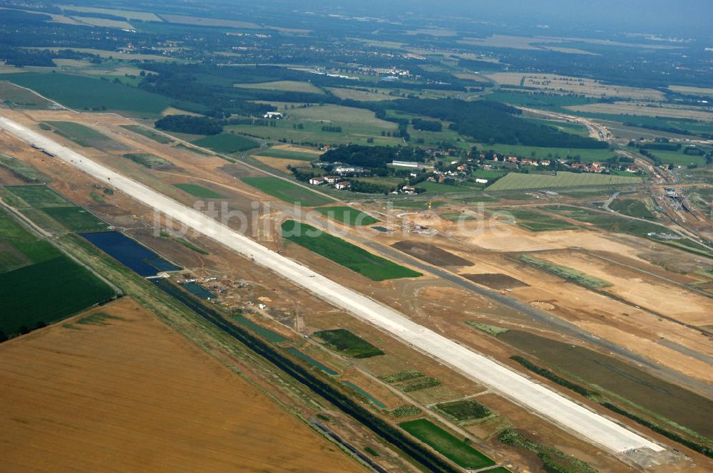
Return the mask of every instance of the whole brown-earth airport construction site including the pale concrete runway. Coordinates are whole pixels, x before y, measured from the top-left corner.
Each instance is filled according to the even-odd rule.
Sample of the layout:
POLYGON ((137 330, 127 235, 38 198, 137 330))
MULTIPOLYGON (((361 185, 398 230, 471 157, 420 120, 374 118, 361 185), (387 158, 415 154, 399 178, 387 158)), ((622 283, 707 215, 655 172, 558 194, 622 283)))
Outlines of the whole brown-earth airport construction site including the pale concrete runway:
MULTIPOLYGON (((554 448, 559 452, 554 457, 575 457, 598 471, 707 471, 713 464, 704 454, 713 432, 701 422, 705 416, 695 414, 713 412, 713 312, 707 276, 713 260, 632 232, 602 229, 596 220, 583 222, 578 214, 555 208, 575 208, 587 196, 540 202, 524 192, 504 194, 479 214, 467 197, 443 197, 440 205, 429 202, 421 209, 403 206, 403 199, 349 200, 314 192, 233 157, 194 149, 178 137, 168 143, 150 139, 127 128, 143 125, 118 115, 68 110, 2 110, 2 115, 4 154, 50 177, 43 181, 48 188, 96 214, 99 222, 180 266, 161 276, 169 276, 165 279, 173 286, 196 284, 207 291, 199 291, 203 306, 229 320, 240 309, 242 318, 233 323, 258 338, 275 337, 272 345, 293 350, 299 363, 307 363, 330 383, 339 379, 340 392, 360 400, 393 428, 416 432, 418 425, 418 435, 409 435, 442 454, 451 467, 473 467, 471 460, 478 465, 477 455, 453 444, 461 439, 493 465, 512 471, 517 471, 513 465, 540 467, 537 452, 504 435, 508 429, 540 447, 554 448), (84 140, 105 142, 77 145, 81 137, 72 140, 39 126, 60 122, 90 128, 103 139, 86 133, 84 140), (128 153, 143 157, 127 158, 128 153), (305 196, 314 199, 317 209, 364 212, 379 220, 372 225, 387 231, 354 227, 349 218, 329 221, 327 212, 309 212, 289 202, 304 202, 305 196), (225 203, 225 212, 244 217, 221 222, 220 215, 206 214, 210 202, 218 207, 225 203), (520 210, 513 212, 514 222, 493 218, 483 228, 488 212, 510 208, 520 210), (461 215, 465 217, 458 218, 461 215), (327 229, 333 239, 304 244, 289 237, 285 222, 300 221, 310 229, 327 229), (160 232, 154 231, 156 226, 160 232), (354 264, 355 259, 363 263, 365 254, 371 266, 354 264), (387 271, 384 261, 394 266, 387 271), (580 350, 576 356, 582 363, 568 358, 573 355, 568 347, 580 350), (619 390, 616 380, 631 383, 629 391, 619 390), (349 383, 347 388, 344 383, 349 383), (672 407, 647 395, 657 390, 687 402, 672 407), (436 407, 465 399, 490 413, 460 419, 436 407), (455 440, 429 425, 404 423, 419 419, 435 422, 455 440)), ((294 155, 280 158, 277 153, 271 158, 289 160, 294 155)), ((51 219, 58 212, 46 212, 50 204, 18 205, 24 201, 11 186, 26 182, 6 168, 0 168, 0 182, 9 192, 1 196, 4 203, 19 209, 44 237, 56 239, 65 251, 78 252, 80 259, 83 252, 91 254, 71 237, 79 231, 71 227, 78 225, 76 220, 53 226, 46 215, 51 219)), ((87 261, 93 259, 101 257, 87 261)), ((120 289, 125 293, 125 287, 138 287, 135 284, 120 289)), ((111 304, 127 305, 126 298, 111 304)), ((148 299, 138 297, 134 304, 144 306, 148 299)), ((143 322, 132 318, 131 324, 150 318, 146 313, 141 317, 143 322)), ((131 326, 123 318, 108 318, 106 323, 89 324, 83 335, 94 338, 95 331, 131 326)), ((182 333, 193 333, 191 325, 183 321, 177 326, 182 333)), ((247 378, 255 376, 245 368, 255 355, 229 357, 224 338, 211 342, 210 330, 199 332, 203 349, 240 359, 240 371, 245 370, 247 378)), ((4 350, 17 350, 25 340, 39 343, 55 333, 70 337, 72 331, 53 326, 30 333, 1 346, 0 359, 4 350)), ((100 342, 96 336, 93 343, 100 342)), ((217 370, 218 365, 212 368, 217 370)), ((257 370, 257 385, 265 383, 265 370, 257 370)), ((329 420, 315 417, 317 422, 339 432, 345 442, 354 442, 366 457, 394 471, 409 470, 398 455, 386 452, 383 440, 374 440, 378 432, 355 427, 353 415, 327 407, 324 400, 307 401, 314 393, 287 380, 281 383, 289 392, 277 395, 282 405, 304 402, 289 409, 308 420, 321 412, 329 420), (304 407, 310 402, 322 408, 304 407), (369 449, 380 455, 369 454, 369 449)), ((309 422, 297 424, 310 432, 309 422)), ((334 457, 346 448, 343 444, 313 444, 321 449, 316 454, 324 458, 325 469, 359 468, 347 457, 334 457)))

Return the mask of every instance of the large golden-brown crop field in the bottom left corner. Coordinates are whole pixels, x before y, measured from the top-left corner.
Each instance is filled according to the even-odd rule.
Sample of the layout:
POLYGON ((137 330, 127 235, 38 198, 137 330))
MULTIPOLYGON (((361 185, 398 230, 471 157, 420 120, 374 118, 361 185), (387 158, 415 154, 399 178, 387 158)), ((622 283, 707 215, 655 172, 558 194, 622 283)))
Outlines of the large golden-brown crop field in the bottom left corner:
POLYGON ((129 298, 1 345, 0 386, 5 471, 364 471, 129 298))

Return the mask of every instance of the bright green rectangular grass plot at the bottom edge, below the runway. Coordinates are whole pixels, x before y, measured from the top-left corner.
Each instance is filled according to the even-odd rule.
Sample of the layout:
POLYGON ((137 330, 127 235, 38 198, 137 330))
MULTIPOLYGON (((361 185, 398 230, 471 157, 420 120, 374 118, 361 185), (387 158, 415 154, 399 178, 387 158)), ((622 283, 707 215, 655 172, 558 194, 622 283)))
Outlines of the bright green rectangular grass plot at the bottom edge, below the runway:
POLYGON ((495 464, 493 460, 458 437, 441 429, 430 420, 407 420, 406 422, 401 422, 399 427, 460 467, 479 469, 495 464))

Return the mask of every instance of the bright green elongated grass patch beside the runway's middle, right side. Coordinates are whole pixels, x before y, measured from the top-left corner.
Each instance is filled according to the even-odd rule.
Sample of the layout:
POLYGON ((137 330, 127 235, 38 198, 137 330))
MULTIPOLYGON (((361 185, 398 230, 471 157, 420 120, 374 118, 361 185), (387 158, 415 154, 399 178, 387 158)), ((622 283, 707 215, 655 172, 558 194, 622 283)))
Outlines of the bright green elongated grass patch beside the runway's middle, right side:
POLYGON ((421 273, 294 220, 287 220, 282 224, 282 235, 285 239, 294 241, 294 243, 331 259, 337 264, 363 274, 372 281, 421 276, 421 273))

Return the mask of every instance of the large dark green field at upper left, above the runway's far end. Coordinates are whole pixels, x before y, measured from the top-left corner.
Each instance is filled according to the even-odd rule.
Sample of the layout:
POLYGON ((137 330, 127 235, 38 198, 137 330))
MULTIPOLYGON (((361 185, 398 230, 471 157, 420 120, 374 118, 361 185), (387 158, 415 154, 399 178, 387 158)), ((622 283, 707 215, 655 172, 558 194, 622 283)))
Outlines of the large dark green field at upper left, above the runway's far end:
POLYGON ((155 118, 171 100, 110 80, 51 73, 4 74, 0 80, 36 90, 51 100, 77 110, 118 110, 155 118))

